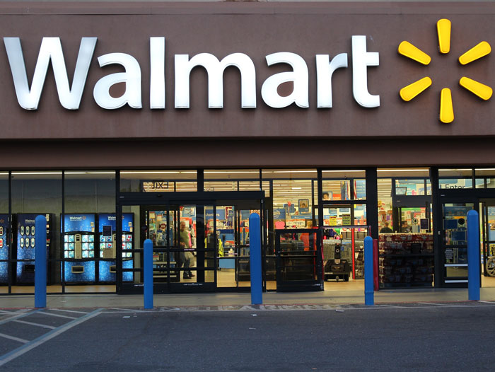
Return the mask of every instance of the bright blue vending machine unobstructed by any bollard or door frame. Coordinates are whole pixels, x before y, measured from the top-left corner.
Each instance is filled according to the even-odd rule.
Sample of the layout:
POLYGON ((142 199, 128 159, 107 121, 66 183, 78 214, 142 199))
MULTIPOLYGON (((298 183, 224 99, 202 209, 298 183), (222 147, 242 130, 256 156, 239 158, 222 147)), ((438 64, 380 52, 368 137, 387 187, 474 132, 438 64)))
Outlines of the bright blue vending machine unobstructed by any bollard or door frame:
POLYGON ((66 283, 94 283, 95 214, 65 214, 62 231, 66 259, 62 280, 66 283))

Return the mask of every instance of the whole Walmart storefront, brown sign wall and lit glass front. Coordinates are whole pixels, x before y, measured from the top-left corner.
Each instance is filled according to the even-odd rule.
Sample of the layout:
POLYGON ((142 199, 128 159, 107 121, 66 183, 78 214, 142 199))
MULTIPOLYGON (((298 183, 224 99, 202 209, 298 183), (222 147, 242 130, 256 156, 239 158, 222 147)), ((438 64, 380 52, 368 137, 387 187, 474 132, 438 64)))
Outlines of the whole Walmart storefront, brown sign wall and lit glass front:
POLYGON ((54 293, 141 291, 145 238, 156 291, 248 290, 252 211, 267 290, 361 286, 368 235, 381 288, 466 286, 470 209, 490 286, 494 11, 2 3, 0 292, 37 214, 54 293))

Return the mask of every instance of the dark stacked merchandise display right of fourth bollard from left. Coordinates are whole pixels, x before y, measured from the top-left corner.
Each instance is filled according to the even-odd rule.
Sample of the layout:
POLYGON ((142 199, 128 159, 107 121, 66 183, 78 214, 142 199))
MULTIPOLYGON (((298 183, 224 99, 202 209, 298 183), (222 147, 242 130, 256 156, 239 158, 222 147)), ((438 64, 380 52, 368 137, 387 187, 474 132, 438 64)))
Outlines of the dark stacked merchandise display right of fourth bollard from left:
POLYGON ((433 285, 432 234, 381 234, 378 257, 380 288, 433 285))

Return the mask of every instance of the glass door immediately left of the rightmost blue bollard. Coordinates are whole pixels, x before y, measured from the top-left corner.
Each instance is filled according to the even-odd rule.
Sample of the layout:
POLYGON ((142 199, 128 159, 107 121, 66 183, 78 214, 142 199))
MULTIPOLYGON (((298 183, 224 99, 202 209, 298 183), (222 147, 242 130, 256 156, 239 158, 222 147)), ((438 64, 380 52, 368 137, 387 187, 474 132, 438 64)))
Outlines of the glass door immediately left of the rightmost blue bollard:
POLYGON ((477 202, 443 200, 441 207, 444 283, 447 287, 465 287, 467 286, 467 212, 477 208, 477 202))

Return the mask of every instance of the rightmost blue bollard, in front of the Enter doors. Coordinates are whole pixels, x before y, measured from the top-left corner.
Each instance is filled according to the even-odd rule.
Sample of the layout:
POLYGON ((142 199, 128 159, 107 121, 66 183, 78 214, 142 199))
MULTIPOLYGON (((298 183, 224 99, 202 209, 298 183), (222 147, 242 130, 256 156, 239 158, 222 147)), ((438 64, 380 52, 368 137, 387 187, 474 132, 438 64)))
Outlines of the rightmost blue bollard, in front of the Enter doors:
POLYGON ((474 209, 467 212, 467 297, 479 301, 479 216, 474 209))

